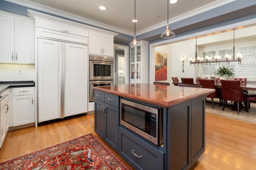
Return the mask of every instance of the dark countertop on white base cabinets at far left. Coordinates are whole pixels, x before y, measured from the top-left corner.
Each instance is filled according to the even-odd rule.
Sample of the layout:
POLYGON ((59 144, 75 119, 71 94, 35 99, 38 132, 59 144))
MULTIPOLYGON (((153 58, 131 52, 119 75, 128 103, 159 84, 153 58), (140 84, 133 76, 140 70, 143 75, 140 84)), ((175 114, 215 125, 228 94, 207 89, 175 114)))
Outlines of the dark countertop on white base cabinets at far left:
POLYGON ((0 82, 0 94, 12 87, 34 87, 34 81, 10 81, 10 82, 0 82))

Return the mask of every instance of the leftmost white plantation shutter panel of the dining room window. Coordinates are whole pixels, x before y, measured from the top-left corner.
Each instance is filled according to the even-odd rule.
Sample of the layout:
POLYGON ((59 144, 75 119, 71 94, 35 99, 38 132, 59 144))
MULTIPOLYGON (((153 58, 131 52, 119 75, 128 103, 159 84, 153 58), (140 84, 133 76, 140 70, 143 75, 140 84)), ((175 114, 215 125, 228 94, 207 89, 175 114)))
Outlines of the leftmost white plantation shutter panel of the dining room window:
MULTIPOLYGON (((216 55, 216 50, 215 49, 210 49, 210 50, 205 50, 202 51, 202 57, 206 56, 212 57, 214 59, 214 56, 216 55)), ((206 74, 206 77, 210 77, 210 71, 215 71, 216 70, 216 63, 202 63, 202 73, 206 74)))

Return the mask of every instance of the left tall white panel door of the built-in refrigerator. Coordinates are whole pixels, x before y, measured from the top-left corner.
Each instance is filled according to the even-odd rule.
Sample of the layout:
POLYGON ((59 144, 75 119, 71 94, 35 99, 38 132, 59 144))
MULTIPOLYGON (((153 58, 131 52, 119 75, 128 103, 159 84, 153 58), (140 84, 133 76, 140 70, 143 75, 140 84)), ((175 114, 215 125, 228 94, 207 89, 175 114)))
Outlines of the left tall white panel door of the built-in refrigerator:
POLYGON ((38 39, 38 122, 60 118, 61 45, 38 39))

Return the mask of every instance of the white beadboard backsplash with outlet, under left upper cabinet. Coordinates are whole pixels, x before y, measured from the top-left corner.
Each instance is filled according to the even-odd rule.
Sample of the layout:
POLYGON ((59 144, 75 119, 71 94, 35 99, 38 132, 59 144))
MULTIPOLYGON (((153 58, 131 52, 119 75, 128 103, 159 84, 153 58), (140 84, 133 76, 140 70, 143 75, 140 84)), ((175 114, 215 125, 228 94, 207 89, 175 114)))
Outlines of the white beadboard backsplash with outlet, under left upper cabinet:
POLYGON ((0 63, 0 82, 5 81, 35 81, 35 64, 0 63))

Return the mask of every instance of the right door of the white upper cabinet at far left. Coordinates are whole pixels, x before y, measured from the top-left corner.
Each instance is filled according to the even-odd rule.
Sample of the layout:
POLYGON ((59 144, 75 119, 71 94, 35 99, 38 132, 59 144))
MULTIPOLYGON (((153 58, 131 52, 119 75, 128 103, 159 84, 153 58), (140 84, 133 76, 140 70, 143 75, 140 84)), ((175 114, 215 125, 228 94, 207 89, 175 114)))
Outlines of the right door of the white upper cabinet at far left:
POLYGON ((15 63, 34 62, 34 23, 15 20, 15 63))

